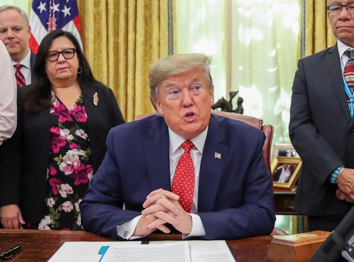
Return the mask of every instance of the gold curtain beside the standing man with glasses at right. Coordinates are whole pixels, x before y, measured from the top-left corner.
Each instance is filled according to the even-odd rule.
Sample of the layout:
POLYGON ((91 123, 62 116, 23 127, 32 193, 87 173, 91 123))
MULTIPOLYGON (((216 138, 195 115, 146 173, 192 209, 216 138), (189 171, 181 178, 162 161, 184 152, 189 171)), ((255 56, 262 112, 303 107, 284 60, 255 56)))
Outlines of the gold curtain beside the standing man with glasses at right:
POLYGON ((336 41, 327 18, 327 3, 327 0, 305 1, 305 56, 332 46, 336 41))

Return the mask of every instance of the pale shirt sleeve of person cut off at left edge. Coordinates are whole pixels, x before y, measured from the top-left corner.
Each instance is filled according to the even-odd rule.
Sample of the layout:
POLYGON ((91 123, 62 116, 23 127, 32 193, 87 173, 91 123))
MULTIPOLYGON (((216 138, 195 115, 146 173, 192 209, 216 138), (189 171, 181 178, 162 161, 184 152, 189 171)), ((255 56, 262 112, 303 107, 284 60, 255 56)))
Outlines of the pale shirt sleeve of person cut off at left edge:
POLYGON ((17 83, 10 54, 0 40, 0 145, 10 138, 17 125, 17 83))

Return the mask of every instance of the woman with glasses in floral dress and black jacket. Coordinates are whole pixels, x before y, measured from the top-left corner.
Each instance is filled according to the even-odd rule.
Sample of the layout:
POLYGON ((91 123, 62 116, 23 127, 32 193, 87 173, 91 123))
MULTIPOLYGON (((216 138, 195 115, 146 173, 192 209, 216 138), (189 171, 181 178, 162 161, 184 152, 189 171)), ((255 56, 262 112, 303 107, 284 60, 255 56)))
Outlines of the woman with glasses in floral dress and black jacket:
POLYGON ((110 128, 124 119, 73 34, 46 35, 34 72, 37 81, 19 90, 18 127, 0 155, 1 222, 80 230, 79 203, 104 158, 110 128))

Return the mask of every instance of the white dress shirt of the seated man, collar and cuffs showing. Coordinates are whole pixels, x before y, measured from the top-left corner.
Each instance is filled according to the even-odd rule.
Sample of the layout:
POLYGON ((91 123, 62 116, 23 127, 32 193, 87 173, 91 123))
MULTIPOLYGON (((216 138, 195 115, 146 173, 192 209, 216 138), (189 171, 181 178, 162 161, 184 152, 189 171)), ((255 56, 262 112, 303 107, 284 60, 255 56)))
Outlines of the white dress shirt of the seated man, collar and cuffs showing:
MULTIPOLYGON (((194 194, 193 203, 190 216, 192 217, 192 230, 189 234, 182 234, 183 239, 188 239, 193 236, 205 236, 205 230, 200 216, 195 214, 198 212, 198 188, 199 188, 199 170, 202 159, 204 144, 206 135, 208 133, 208 127, 205 128, 198 136, 191 139, 194 146, 190 150, 190 154, 194 165, 194 194)), ((184 153, 182 143, 186 140, 182 136, 176 134, 170 128, 168 128, 169 134, 169 154, 170 154, 170 181, 172 187, 172 181, 175 174, 176 166, 179 158, 184 153)), ((138 224, 138 221, 142 215, 134 217, 132 220, 125 222, 121 225, 117 225, 117 233, 119 236, 125 239, 135 239, 143 236, 133 236, 133 232, 138 224)))

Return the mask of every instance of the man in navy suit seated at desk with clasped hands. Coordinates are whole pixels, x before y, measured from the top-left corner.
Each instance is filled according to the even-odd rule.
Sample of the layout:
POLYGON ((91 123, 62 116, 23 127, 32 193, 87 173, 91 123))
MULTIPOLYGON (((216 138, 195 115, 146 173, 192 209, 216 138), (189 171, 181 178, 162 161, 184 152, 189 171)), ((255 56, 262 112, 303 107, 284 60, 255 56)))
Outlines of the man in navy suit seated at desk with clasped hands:
POLYGON ((80 203, 86 230, 120 239, 157 229, 203 239, 272 231, 265 135, 211 113, 210 62, 203 54, 177 54, 150 68, 158 115, 111 129, 106 156, 80 203))

